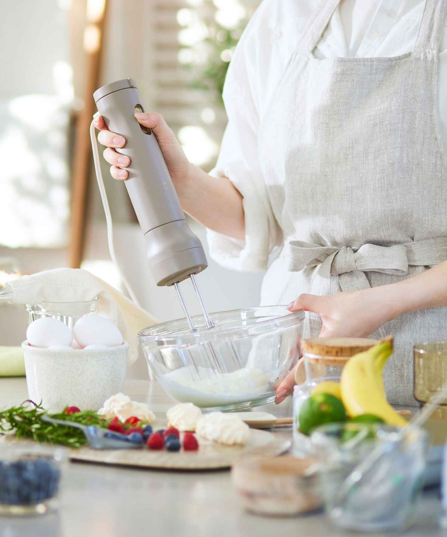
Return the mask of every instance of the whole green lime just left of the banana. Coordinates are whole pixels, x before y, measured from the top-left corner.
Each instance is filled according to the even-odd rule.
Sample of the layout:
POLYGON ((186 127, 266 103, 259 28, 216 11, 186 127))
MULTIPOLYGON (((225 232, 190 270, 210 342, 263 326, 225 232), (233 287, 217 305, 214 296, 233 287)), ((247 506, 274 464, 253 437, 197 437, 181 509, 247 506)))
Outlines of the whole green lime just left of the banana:
POLYGON ((314 394, 304 401, 299 411, 299 430, 310 434, 317 425, 331 422, 344 422, 345 407, 337 397, 330 394, 314 394))

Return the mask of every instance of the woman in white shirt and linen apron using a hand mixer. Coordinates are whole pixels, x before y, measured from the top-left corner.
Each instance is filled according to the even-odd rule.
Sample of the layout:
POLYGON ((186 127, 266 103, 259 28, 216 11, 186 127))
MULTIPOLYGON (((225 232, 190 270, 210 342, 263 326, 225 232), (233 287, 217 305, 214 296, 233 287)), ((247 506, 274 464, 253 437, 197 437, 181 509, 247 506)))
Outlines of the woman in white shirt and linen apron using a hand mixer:
MULTIPOLYGON (((394 333, 393 403, 414 402, 414 343, 446 338, 446 13, 447 0, 265 0, 229 68, 214 177, 159 114, 135 114, 214 259, 263 270, 283 246, 263 304, 309 311, 306 336, 394 333)), ((125 140, 97 127, 125 179, 125 140)))

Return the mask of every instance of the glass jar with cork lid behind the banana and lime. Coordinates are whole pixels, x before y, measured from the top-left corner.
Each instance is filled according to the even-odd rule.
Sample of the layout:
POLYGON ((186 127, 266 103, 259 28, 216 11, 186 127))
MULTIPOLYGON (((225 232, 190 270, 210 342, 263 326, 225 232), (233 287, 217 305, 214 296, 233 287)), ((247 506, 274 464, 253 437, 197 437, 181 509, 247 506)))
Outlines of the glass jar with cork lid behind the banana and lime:
MULTIPOLYGON (((294 452, 309 454, 312 451, 309 437, 299 432, 299 411, 312 391, 326 393, 317 388, 322 382, 340 382, 341 372, 346 362, 359 352, 364 352, 376 345, 376 339, 322 337, 303 339, 303 358, 295 372, 297 385, 294 388, 294 452)), ((336 386, 327 385, 331 395, 337 395, 336 386), (331 391, 331 388, 334 391, 331 391)))

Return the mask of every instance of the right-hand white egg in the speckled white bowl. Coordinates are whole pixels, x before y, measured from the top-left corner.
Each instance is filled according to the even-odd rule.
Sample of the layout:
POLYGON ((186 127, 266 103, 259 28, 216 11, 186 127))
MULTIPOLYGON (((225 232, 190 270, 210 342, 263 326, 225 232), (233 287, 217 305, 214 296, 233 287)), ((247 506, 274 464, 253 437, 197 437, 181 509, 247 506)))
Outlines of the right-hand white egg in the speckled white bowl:
POLYGON ((123 342, 121 332, 112 321, 99 315, 81 317, 74 326, 73 335, 81 347, 94 344, 115 347, 123 342))

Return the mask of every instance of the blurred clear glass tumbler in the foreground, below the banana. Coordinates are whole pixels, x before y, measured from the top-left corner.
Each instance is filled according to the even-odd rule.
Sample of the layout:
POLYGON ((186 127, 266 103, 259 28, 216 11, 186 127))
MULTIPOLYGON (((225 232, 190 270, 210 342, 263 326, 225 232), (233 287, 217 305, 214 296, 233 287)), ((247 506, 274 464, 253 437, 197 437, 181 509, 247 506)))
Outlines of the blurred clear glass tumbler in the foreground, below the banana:
POLYGON ((416 429, 396 441, 397 429, 386 425, 331 423, 311 434, 319 461, 326 513, 335 526, 357 531, 393 531, 414 523, 415 505, 426 466, 427 432, 416 429), (358 463, 385 442, 368 469, 358 463), (354 484, 347 482, 351 475, 354 484))

